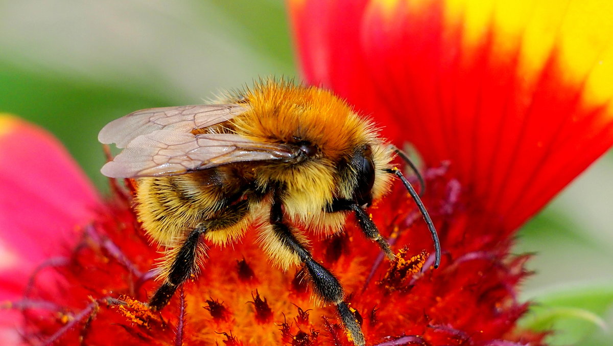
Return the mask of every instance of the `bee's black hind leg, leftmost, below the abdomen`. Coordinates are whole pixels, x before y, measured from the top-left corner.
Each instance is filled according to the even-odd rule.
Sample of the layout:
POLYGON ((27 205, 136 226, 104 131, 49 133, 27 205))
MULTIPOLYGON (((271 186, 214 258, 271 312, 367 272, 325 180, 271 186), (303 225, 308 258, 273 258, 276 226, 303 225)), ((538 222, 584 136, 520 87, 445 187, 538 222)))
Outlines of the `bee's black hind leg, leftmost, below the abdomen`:
POLYGON ((165 307, 175 294, 177 287, 197 271, 197 259, 200 255, 198 244, 200 235, 204 232, 204 226, 194 229, 183 240, 180 247, 170 250, 167 255, 169 263, 163 265, 166 271, 162 274, 162 277, 165 278, 164 283, 151 297, 149 301, 151 309, 159 310, 165 307))

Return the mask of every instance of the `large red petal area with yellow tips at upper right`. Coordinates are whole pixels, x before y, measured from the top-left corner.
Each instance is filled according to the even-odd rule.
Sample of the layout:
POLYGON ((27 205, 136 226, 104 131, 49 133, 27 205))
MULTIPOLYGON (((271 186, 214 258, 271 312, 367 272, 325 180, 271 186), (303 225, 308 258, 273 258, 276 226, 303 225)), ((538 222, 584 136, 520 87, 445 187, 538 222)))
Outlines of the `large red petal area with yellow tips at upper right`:
POLYGON ((291 15, 310 82, 430 166, 450 160, 475 209, 512 231, 613 144, 612 9, 596 5, 313 0, 291 15))

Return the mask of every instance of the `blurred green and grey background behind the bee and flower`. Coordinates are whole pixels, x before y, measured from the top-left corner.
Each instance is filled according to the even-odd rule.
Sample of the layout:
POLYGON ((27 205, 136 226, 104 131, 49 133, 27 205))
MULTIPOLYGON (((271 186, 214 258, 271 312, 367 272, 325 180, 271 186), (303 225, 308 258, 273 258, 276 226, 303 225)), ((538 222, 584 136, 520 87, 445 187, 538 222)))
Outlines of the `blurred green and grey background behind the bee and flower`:
MULTIPOLYGON (((280 0, 0 1, 0 112, 53 132, 103 191, 108 121, 297 74, 280 0)), ((609 154, 517 237, 537 253, 524 324, 554 326, 552 344, 613 344, 612 172, 609 154)))

